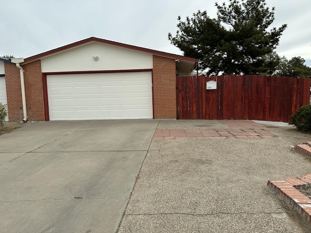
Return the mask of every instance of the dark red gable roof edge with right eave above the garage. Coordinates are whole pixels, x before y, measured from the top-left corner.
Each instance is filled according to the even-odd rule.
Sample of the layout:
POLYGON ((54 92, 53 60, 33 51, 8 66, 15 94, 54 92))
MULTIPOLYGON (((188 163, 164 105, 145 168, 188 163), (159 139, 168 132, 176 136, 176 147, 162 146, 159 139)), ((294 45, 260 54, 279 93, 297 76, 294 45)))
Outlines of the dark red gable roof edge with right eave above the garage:
POLYGON ((176 54, 167 53, 167 52, 162 52, 162 51, 157 51, 157 50, 145 49, 145 48, 141 48, 141 47, 137 47, 137 46, 133 46, 133 45, 122 44, 119 42, 104 40, 104 39, 100 39, 100 38, 96 38, 96 37, 90 37, 90 38, 87 38, 84 40, 74 42, 74 43, 69 44, 69 45, 65 45, 63 47, 59 47, 59 48, 54 49, 54 50, 49 50, 49 51, 39 53, 37 55, 25 58, 24 64, 39 60, 39 59, 47 57, 47 56, 54 55, 54 54, 62 52, 64 50, 68 50, 68 49, 71 49, 74 47, 81 46, 81 45, 84 45, 84 44, 87 44, 90 42, 99 42, 99 43, 103 43, 103 44, 107 44, 107 45, 118 46, 118 47, 125 48, 125 49, 137 50, 137 51, 141 51, 141 52, 151 53, 151 54, 154 54, 157 56, 172 58, 175 60, 178 59, 178 62, 176 63, 176 69, 180 70, 182 73, 189 73, 190 74, 192 69, 195 67, 195 64, 198 62, 198 59, 195 59, 195 58, 185 57, 185 56, 176 55, 176 54))

